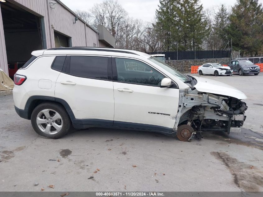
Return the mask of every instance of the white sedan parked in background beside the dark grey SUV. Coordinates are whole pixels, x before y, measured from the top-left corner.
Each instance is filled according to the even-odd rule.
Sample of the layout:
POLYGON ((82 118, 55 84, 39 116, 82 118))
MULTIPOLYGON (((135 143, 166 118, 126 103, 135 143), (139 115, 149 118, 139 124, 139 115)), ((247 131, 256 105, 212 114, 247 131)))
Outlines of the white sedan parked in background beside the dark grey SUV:
POLYGON ((202 66, 198 67, 197 72, 200 75, 211 74, 211 75, 214 75, 214 76, 232 75, 233 74, 233 70, 229 66, 222 66, 219 63, 206 63, 206 64, 203 64, 202 66))

